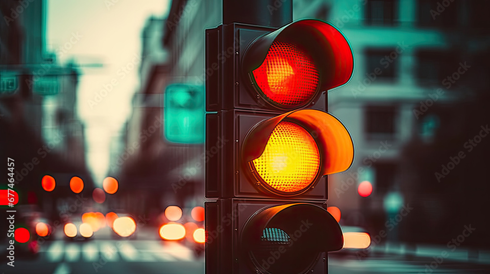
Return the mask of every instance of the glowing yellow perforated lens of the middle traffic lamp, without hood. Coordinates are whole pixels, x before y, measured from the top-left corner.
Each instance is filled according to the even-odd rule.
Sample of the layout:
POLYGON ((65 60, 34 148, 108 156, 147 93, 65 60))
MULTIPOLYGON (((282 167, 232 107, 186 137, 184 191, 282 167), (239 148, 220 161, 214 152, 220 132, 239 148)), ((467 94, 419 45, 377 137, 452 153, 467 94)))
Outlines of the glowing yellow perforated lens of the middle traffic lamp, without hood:
POLYGON ((315 180, 320 155, 317 143, 303 127, 283 121, 270 134, 262 155, 252 163, 257 175, 274 190, 297 192, 315 180))

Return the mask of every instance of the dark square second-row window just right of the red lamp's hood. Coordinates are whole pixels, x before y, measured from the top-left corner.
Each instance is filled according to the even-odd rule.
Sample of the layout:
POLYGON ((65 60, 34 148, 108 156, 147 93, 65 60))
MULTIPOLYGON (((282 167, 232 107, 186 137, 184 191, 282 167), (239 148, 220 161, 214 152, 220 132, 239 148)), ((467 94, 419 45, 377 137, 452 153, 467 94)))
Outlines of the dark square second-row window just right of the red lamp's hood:
MULTIPOLYGON (((397 63, 399 62, 397 60, 398 57, 399 54, 396 52, 395 48, 367 49, 366 73, 371 75, 370 80, 375 81, 373 78, 394 80, 396 76, 397 63)), ((369 77, 368 75, 366 77, 369 77)))

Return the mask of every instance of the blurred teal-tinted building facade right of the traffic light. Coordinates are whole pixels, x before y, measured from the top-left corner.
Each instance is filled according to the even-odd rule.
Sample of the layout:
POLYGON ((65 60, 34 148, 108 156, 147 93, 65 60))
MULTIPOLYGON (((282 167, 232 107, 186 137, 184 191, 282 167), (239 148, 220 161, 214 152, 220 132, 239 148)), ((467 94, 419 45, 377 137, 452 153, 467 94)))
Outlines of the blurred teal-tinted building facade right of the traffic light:
POLYGON ((426 225, 441 229, 447 221, 441 218, 451 212, 444 204, 447 196, 442 191, 427 191, 418 183, 405 157, 406 146, 414 140, 433 142, 441 124, 441 117, 431 114, 433 105, 432 110, 456 110, 459 103, 471 98, 471 83, 479 81, 485 86, 482 81, 486 80, 465 75, 489 46, 483 31, 489 23, 483 22, 481 10, 489 10, 488 3, 294 1, 294 20, 316 18, 333 23, 354 52, 351 81, 328 94, 329 112, 343 121, 356 148, 353 166, 330 176, 329 181, 329 205, 341 208, 344 225, 377 233, 387 229, 386 221, 404 205, 417 207, 417 216, 427 215, 426 223, 415 222, 418 217, 412 214, 394 226, 388 239, 397 241, 407 240, 397 236, 401 232, 410 235, 422 229, 422 233, 426 225), (363 181, 373 185, 368 197, 358 194, 363 181))

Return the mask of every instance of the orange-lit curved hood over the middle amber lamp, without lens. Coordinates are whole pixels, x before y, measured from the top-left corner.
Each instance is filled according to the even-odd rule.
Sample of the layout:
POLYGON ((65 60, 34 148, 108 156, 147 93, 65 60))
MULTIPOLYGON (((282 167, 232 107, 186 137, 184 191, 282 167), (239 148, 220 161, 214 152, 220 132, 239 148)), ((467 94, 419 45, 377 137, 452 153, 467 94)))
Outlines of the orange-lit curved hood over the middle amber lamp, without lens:
POLYGON ((262 121, 245 137, 242 153, 246 163, 262 155, 271 132, 287 120, 305 128, 318 144, 320 175, 347 170, 354 161, 354 143, 342 122, 332 114, 314 109, 291 111, 262 121))

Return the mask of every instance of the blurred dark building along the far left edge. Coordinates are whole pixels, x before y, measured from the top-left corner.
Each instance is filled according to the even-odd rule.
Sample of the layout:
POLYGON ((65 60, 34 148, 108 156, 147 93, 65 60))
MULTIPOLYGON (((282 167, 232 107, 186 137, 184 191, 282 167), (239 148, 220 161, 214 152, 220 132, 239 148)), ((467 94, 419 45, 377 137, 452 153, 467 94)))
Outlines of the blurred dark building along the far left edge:
POLYGON ((93 185, 76 112, 79 72, 47 51, 46 1, 1 1, 0 16, 0 152, 16 160, 19 203, 39 203, 53 214, 56 204, 69 204, 60 199, 70 194, 72 176, 86 189, 93 185), (45 174, 55 178, 57 191, 42 190, 45 174))

